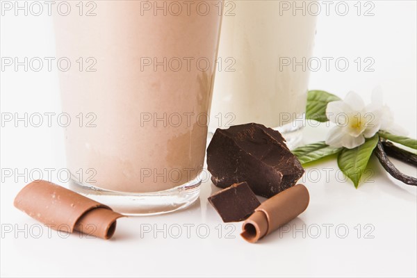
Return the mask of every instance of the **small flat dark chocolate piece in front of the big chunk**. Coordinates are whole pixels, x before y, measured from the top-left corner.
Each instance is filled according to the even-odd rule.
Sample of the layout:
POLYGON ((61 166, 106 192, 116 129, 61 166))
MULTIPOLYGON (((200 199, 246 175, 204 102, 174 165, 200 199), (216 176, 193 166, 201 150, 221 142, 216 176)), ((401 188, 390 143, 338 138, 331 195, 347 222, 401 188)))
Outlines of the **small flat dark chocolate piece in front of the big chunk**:
POLYGON ((261 203, 247 183, 235 183, 208 197, 223 222, 238 222, 248 218, 261 203))

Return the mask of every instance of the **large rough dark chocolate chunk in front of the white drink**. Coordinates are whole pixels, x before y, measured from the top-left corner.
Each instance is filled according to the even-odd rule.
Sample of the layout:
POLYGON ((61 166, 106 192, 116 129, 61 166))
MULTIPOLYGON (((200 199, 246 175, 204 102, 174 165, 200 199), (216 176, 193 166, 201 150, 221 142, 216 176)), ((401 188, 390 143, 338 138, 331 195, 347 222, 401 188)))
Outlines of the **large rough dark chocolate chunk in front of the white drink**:
POLYGON ((207 148, 211 181, 220 188, 246 181, 256 195, 272 197, 304 174, 281 133, 262 124, 217 129, 207 148))

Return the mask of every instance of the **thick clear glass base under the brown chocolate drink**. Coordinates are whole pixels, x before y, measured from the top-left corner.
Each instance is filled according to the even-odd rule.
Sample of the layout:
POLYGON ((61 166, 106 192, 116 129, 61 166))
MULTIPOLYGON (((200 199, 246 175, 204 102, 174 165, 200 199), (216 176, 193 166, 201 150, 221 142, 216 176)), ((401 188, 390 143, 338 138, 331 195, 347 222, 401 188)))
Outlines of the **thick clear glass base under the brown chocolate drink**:
POLYGON ((152 193, 124 193, 104 190, 71 179, 70 189, 106 204, 123 215, 156 215, 186 208, 199 197, 201 179, 152 193))

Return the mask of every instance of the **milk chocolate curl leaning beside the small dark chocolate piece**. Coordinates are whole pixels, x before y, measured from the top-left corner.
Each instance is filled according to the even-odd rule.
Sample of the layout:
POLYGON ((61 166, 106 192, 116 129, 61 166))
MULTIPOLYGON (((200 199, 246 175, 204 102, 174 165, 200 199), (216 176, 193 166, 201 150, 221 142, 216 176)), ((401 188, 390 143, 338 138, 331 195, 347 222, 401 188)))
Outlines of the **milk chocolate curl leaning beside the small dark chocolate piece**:
POLYGON ((309 200, 309 190, 302 184, 278 193, 258 206, 250 218, 243 222, 240 236, 250 243, 256 243, 305 211, 309 200))

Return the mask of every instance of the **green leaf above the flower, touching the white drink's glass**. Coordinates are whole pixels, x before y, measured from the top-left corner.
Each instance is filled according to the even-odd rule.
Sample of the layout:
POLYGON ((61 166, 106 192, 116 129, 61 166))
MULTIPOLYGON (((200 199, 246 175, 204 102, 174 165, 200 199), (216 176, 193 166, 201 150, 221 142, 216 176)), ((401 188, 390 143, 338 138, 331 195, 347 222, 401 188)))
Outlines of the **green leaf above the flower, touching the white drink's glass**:
POLYGON ((307 95, 306 119, 327 122, 326 108, 330 101, 341 100, 325 91, 312 90, 307 95))

